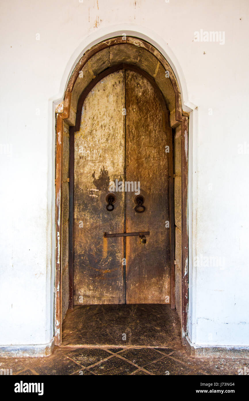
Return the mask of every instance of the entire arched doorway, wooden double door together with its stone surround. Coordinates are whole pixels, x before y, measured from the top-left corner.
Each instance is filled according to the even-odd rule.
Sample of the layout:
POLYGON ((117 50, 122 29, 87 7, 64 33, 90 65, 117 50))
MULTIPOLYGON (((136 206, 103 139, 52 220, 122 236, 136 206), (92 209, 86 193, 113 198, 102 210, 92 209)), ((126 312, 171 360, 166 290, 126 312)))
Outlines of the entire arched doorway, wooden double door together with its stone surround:
MULTIPOLYGON (((56 343, 61 342, 62 320, 68 306, 72 308, 73 304, 170 302, 174 308, 175 297, 184 340, 187 330, 188 122, 187 115, 183 115, 181 110, 177 81, 160 53, 136 38, 125 38, 125 41, 122 37, 113 38, 96 45, 87 53, 76 66, 68 83, 63 113, 57 115, 56 343), (96 117, 96 105, 99 104, 101 110, 105 101, 108 102, 101 93, 101 87, 103 89, 105 85, 104 80, 107 80, 106 84, 109 82, 109 85, 112 85, 107 85, 106 89, 108 99, 111 96, 112 101, 114 82, 119 82, 116 85, 119 94, 115 101, 118 99, 120 103, 118 106, 115 101, 114 103, 120 108, 120 113, 112 111, 110 119, 109 112, 109 122, 115 122, 113 126, 111 124, 111 131, 110 127, 109 131, 103 131, 103 127, 108 126, 108 113, 102 116, 103 121, 100 113, 97 113, 98 118, 96 117), (90 91, 100 92, 99 99, 98 96, 95 96, 95 100, 92 99, 92 105, 89 103, 92 95, 90 91), (150 97, 146 99, 148 93, 150 97), (141 101, 142 97, 146 101, 141 101), (88 103, 84 104, 84 101, 88 103), (86 113, 82 113, 84 106, 86 113), (101 124, 103 126, 102 135, 99 132, 95 137, 94 118, 96 127, 100 127, 101 124), (118 134, 115 130, 117 127, 118 134), (146 129, 151 131, 149 135, 145 134, 146 129), (106 138, 103 137, 103 132, 107 134, 106 138), (118 135, 120 145, 117 150, 115 143, 111 146, 112 140, 117 139, 114 132, 118 135), (107 146, 104 150, 105 143, 108 144, 108 135, 109 148, 107 146), (99 142, 104 146, 101 149, 101 158, 92 157, 94 151, 96 154, 100 151, 98 145, 96 146, 96 138, 99 138, 99 142), (132 143, 135 143, 134 150, 131 150, 132 143), (80 154, 80 149, 85 152, 84 156, 80 154), (110 152, 115 153, 115 163, 111 162, 110 152), (120 158, 117 158, 117 155, 120 158), (97 160, 97 164, 94 165, 90 160, 97 160), (98 173, 97 165, 100 167, 98 173), (90 186, 87 185, 89 178, 92 180, 88 182, 90 186), (147 213, 136 213, 134 192, 115 193, 109 190, 106 193, 107 180, 118 180, 124 185, 125 181, 133 184, 141 182, 141 195, 147 213), (114 211, 106 209, 108 193, 116 195, 114 211), (102 218, 98 218, 93 224, 96 216, 102 218), (110 235, 131 232, 139 234, 141 231, 150 231, 144 245, 139 243, 139 236, 104 238, 103 235, 104 232, 110 235), (123 263, 120 263, 121 260, 123 263)), ((112 107, 109 111, 111 109, 112 107)))

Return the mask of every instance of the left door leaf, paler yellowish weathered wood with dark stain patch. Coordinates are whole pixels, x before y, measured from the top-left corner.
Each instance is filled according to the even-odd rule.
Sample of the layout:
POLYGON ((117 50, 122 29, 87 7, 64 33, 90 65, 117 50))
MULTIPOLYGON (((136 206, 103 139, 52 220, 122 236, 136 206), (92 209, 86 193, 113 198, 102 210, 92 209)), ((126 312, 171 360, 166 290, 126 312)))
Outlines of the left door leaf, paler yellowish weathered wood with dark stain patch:
POLYGON ((109 182, 124 180, 125 73, 103 78, 84 101, 74 142, 74 304, 123 302, 124 192, 107 211, 109 182))

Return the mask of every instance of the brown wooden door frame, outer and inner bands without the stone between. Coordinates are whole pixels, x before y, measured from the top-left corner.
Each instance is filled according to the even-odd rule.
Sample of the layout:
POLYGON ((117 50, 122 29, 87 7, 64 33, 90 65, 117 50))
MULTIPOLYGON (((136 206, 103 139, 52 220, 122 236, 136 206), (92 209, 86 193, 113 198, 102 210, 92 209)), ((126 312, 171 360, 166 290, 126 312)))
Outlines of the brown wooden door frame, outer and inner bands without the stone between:
MULTIPOLYGON (((185 113, 182 110, 181 107, 181 93, 179 90, 179 85, 177 83, 177 79, 173 73, 173 70, 171 69, 170 65, 167 63, 167 61, 164 59, 164 57, 155 49, 152 45, 149 43, 142 41, 141 39, 138 38, 132 38, 128 37, 123 41, 123 38, 116 37, 116 38, 111 38, 108 41, 104 41, 99 43, 98 45, 95 45, 92 49, 87 51, 82 59, 78 62, 76 65, 74 72, 72 73, 72 76, 70 77, 70 80, 67 85, 67 89, 65 92, 65 97, 64 97, 64 104, 63 104, 63 111, 57 113, 56 115, 56 207, 55 207, 55 215, 56 215, 56 248, 55 248, 55 299, 54 299, 54 308, 55 308, 55 344, 60 345, 62 342, 62 156, 63 156, 63 124, 64 120, 69 119, 70 117, 70 106, 71 106, 71 97, 72 97, 72 91, 74 88, 74 84, 76 83, 76 80, 78 78, 79 72, 82 69, 82 65, 86 64, 88 60, 91 59, 93 55, 98 53, 99 51, 106 49, 107 47, 111 47, 114 45, 124 45, 125 43, 133 43, 136 46, 140 46, 141 48, 147 50, 153 56, 158 60, 161 65, 167 71, 169 71, 169 78, 171 80, 171 83, 173 85, 173 89, 175 91, 175 113, 174 115, 169 115, 169 111, 167 110, 163 95, 157 86, 157 83, 155 83, 154 79, 149 75, 146 71, 140 69, 139 67, 131 64, 125 64, 121 63, 112 67, 109 67, 105 71, 102 71, 98 75, 98 81, 102 79, 104 76, 109 75, 110 73, 114 71, 118 71, 118 69, 124 69, 124 66, 126 69, 133 69, 133 71, 137 71, 141 73, 141 75, 144 75, 149 82, 153 85, 153 87, 156 89, 157 94, 159 96, 160 102, 161 102, 161 107, 162 107, 162 113, 163 113, 163 122, 164 122, 164 127, 165 127, 165 132, 167 132, 167 135, 171 137, 171 149, 172 149, 172 130, 171 127, 174 127, 174 124, 181 124, 181 336, 182 336, 182 342, 185 343, 185 336, 187 335, 187 312, 188 312, 188 220, 187 220, 187 183, 188 183, 188 113, 185 113), (106 75, 105 75, 106 74, 106 75), (162 101, 161 101, 162 99, 162 101)), ((70 124, 70 154, 72 152, 72 149, 74 149, 74 132, 79 129, 80 126, 80 115, 81 115, 81 110, 82 110, 82 105, 84 102, 84 99, 86 98, 87 94, 89 91, 96 85, 98 82, 97 77, 92 79, 90 84, 87 86, 82 91, 82 94, 80 95, 80 98, 78 99, 78 105, 77 105, 77 116, 76 116, 76 122, 75 126, 72 126, 70 124), (88 89, 86 91, 86 89, 88 89)), ((169 152, 171 154, 171 158, 173 157, 173 152, 169 152)), ((72 167, 73 167, 73 157, 71 154, 70 157, 70 167, 71 167, 71 173, 70 173, 70 206, 69 210, 71 213, 71 216, 73 215, 73 172, 72 172, 72 167)), ((170 171, 170 193, 173 194, 173 163, 170 163, 172 166, 172 171, 170 171)), ((173 206, 173 197, 170 197, 170 216, 172 213, 172 206, 173 206)), ((173 208, 174 211, 174 208, 173 208)), ((174 212, 173 212, 174 213, 174 212)), ((72 276, 72 268, 73 268, 73 253, 72 253, 72 244, 73 244, 73 226, 72 226, 72 219, 71 219, 71 225, 70 225, 70 245, 71 245, 71 250, 69 253, 69 263, 70 263, 70 279, 69 279, 69 290, 71 294, 71 299, 70 299, 70 307, 72 308, 72 286, 73 286, 73 276, 72 276)), ((171 216, 171 221, 174 221, 174 217, 172 220, 171 216)), ((175 266, 173 265, 173 260, 174 260, 174 247, 172 246, 174 244, 174 225, 170 225, 171 227, 171 237, 170 237, 170 243, 171 243, 171 273, 172 277, 174 277, 174 272, 175 272, 175 266), (172 258, 173 256, 173 258, 172 258)), ((171 281, 171 288, 174 285, 174 278, 172 278, 171 281)), ((175 300, 175 296, 173 294, 173 297, 171 300, 175 300)), ((173 306, 173 304, 172 304, 173 306)))

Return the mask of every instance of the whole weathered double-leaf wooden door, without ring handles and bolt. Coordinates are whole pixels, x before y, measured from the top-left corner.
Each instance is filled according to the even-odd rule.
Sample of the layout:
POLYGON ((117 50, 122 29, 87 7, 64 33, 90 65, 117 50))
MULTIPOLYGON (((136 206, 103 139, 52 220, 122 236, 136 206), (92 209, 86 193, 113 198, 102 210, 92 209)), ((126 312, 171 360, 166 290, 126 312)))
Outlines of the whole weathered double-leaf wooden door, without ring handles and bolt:
POLYGON ((74 144, 74 304, 170 303, 169 154, 151 83, 129 70, 101 79, 84 101, 74 144), (146 244, 104 238, 139 231, 150 232, 146 244))

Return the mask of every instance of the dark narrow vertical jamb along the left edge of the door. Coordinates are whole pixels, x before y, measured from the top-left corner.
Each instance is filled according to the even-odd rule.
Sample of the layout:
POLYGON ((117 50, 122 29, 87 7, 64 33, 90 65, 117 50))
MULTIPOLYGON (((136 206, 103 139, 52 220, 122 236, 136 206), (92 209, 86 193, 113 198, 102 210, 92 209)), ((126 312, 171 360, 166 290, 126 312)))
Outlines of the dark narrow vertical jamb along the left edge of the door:
POLYGON ((74 127, 69 128, 69 300, 68 308, 73 309, 74 284, 74 127))

